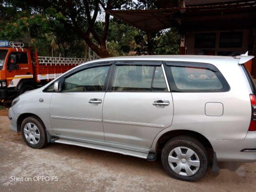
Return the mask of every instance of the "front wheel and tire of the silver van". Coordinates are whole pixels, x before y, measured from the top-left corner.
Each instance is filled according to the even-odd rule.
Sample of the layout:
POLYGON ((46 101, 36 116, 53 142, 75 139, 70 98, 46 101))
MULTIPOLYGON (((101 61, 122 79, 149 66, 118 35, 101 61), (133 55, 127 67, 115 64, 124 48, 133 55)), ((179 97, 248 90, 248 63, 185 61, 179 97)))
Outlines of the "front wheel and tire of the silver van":
POLYGON ((34 116, 23 120, 20 131, 24 141, 32 148, 42 148, 48 143, 44 124, 34 116))

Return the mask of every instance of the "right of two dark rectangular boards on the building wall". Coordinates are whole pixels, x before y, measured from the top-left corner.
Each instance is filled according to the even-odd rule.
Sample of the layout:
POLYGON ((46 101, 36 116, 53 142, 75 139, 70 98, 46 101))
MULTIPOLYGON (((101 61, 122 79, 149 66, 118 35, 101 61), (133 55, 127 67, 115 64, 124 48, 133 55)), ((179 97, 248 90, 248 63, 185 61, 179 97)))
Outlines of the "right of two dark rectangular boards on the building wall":
POLYGON ((220 34, 220 48, 241 48, 243 32, 222 32, 220 34))

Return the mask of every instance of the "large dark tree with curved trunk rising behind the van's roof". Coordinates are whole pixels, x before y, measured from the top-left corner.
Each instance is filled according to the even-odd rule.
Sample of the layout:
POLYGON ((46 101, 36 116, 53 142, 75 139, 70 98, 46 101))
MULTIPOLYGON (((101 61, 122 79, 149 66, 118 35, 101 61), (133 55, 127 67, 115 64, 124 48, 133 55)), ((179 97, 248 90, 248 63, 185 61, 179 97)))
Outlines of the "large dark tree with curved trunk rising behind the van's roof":
MULTIPOLYGON (((2 7, 0 8, 5 10, 4 12, 7 15, 10 12, 15 12, 16 15, 26 12, 30 16, 40 15, 49 23, 61 23, 65 31, 72 31, 79 38, 86 41, 97 55, 108 57, 109 52, 106 49, 106 37, 109 31, 110 15, 105 13, 104 22, 98 22, 97 16, 102 11, 121 9, 122 6, 129 5, 132 5, 132 0, 29 0, 26 2, 6 0, 2 1, 2 7)), ((11 17, 9 16, 9 18, 11 17)), ((38 20, 34 20, 34 22, 38 23, 38 20)), ((18 30, 24 30, 24 32, 26 30, 30 31, 29 23, 17 23, 13 20, 11 25, 14 28, 11 31, 12 33, 17 33, 17 29, 15 30, 17 26, 18 30)), ((50 25, 50 27, 50 29, 46 28, 46 30, 54 30, 53 26, 50 25)), ((7 34, 6 31, 8 30, 5 30, 5 34, 7 34)))

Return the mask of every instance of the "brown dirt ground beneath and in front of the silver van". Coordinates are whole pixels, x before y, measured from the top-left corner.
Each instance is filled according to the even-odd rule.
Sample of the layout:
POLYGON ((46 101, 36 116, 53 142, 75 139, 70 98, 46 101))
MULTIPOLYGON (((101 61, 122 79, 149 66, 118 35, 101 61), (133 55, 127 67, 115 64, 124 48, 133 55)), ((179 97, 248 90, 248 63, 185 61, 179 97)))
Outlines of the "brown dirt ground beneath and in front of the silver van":
POLYGON ((160 158, 149 162, 58 143, 34 150, 0 116, 0 191, 256 191, 256 163, 244 167, 244 178, 222 170, 183 182, 167 176, 160 158), (14 176, 23 181, 14 182, 14 176), (39 176, 50 181, 34 181, 39 176))

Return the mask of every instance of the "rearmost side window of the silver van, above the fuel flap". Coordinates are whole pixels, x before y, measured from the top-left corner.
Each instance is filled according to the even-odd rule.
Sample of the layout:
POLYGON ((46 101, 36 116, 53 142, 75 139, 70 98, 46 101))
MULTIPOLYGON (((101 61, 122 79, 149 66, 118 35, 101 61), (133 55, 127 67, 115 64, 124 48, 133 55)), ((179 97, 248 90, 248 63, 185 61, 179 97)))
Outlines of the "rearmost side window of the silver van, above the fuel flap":
POLYGON ((226 92, 229 86, 219 70, 204 63, 168 63, 166 67, 173 92, 226 92))

